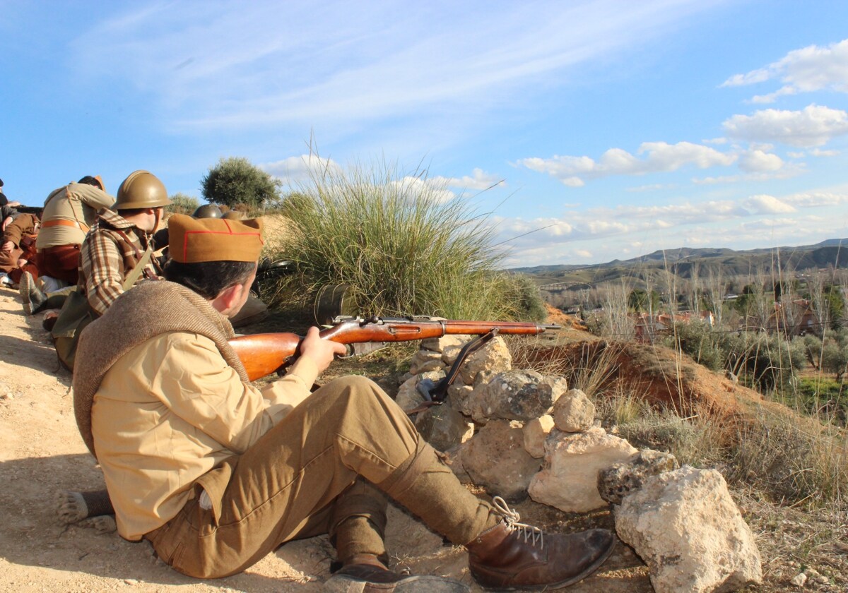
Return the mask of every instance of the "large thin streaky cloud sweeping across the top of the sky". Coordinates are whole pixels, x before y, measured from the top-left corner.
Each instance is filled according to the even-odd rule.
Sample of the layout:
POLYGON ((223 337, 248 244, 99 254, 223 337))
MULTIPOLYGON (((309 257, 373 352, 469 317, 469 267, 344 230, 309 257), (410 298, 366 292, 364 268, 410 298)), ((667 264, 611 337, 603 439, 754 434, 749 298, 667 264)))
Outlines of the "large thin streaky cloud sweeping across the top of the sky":
POLYGON ((172 123, 353 125, 445 105, 479 112, 706 9, 689 0, 477 6, 159 3, 95 21, 69 58, 83 80, 125 73, 121 84, 153 97, 172 123))

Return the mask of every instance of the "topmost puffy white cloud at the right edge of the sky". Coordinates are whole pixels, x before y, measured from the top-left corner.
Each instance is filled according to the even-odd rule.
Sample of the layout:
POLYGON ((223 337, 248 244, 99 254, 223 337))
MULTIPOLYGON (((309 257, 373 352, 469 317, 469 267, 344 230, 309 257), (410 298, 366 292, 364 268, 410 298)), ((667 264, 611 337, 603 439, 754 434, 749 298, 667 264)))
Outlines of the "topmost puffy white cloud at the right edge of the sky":
POLYGON ((721 86, 746 86, 778 78, 784 86, 767 95, 759 95, 755 103, 771 103, 777 97, 800 92, 848 92, 848 39, 828 47, 811 45, 793 50, 765 68, 745 75, 733 75, 721 86))

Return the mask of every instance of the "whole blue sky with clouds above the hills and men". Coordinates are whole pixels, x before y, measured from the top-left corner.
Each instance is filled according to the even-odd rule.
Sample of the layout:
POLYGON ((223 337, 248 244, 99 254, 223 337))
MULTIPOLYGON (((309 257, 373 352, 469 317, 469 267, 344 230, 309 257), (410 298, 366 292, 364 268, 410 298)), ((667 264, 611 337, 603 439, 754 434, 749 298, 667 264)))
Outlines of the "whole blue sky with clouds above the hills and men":
POLYGON ((493 212, 510 266, 848 236, 848 3, 0 0, 0 14, 0 178, 28 204, 82 175, 114 192, 134 169, 199 196, 229 156, 297 183, 321 158, 424 166, 493 212))

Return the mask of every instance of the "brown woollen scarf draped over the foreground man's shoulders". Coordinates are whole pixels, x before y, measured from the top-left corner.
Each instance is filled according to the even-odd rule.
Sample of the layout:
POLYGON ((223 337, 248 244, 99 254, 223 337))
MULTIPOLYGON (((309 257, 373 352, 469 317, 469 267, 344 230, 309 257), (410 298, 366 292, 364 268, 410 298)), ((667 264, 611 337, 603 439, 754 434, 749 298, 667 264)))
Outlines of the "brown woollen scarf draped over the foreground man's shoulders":
POLYGON ((245 382, 248 374, 227 340, 235 335, 225 315, 184 286, 165 280, 142 282, 118 297, 106 314, 80 336, 74 365, 74 413, 82 440, 94 457, 92 403, 103 377, 132 348, 157 335, 187 331, 215 341, 226 363, 245 382))

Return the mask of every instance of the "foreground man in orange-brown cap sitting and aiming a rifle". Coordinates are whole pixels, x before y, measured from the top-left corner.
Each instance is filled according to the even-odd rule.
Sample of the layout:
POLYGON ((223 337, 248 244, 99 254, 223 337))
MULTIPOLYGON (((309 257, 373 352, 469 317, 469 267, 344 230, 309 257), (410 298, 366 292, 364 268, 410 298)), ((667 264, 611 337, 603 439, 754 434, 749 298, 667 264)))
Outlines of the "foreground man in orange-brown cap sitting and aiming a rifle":
POLYGON ((120 535, 149 540, 183 574, 216 578, 289 540, 328 533, 343 565, 332 586, 400 590, 421 578, 386 567, 390 496, 466 546, 484 586, 555 589, 604 562, 615 544, 609 531, 542 534, 477 499, 371 380, 345 377, 310 393, 345 352, 317 328, 282 379, 261 391, 250 385, 227 342, 228 318, 248 297, 261 229, 260 220, 173 216, 170 281, 128 291, 81 335, 76 418, 120 535))

